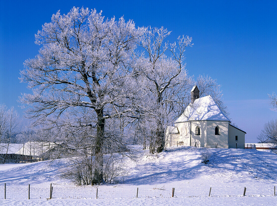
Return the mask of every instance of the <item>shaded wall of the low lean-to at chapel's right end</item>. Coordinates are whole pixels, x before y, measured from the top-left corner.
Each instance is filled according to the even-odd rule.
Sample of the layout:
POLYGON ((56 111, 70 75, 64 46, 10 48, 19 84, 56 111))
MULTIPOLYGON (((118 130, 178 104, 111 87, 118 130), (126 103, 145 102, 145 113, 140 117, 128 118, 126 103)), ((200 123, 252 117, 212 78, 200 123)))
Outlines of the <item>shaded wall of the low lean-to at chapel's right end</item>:
POLYGON ((245 143, 245 133, 240 131, 239 129, 229 126, 229 135, 228 135, 228 142, 229 148, 236 148, 236 143, 238 148, 244 148, 245 143), (235 136, 238 136, 238 141, 236 141, 235 136))

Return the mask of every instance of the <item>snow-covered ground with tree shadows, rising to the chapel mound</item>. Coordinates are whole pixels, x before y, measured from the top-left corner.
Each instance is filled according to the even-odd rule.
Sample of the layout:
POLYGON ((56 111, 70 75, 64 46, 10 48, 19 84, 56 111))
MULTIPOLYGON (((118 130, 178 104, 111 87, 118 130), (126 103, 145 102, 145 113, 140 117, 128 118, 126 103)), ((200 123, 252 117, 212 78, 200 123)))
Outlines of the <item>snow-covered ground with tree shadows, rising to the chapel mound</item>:
POLYGON ((174 147, 129 160, 124 183, 100 186, 75 186, 60 179, 63 159, 5 164, 0 165, 0 205, 276 205, 276 157, 247 149, 174 147), (201 163, 203 151, 212 154, 207 165, 201 163), (53 196, 47 200, 50 183, 53 196), (135 198, 137 187, 139 198, 135 198))

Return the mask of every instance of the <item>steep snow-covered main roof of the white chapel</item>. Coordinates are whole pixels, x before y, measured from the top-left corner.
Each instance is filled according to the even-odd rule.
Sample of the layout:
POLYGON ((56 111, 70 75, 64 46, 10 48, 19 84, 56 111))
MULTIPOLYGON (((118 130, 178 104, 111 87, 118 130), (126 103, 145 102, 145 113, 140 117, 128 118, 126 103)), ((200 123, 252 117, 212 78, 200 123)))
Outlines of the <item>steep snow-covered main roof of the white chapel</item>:
POLYGON ((193 105, 187 106, 184 113, 175 121, 175 123, 203 120, 231 122, 230 119, 222 113, 211 95, 208 95, 196 99, 193 105))

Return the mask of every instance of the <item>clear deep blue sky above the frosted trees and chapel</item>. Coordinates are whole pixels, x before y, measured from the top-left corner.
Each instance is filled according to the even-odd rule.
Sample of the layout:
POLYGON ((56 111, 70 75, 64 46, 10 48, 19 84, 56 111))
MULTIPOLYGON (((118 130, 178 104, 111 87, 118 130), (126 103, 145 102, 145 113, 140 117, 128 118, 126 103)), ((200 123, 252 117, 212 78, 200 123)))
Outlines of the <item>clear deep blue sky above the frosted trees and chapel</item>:
POLYGON ((277 92, 277 1, 2 1, 0 12, 0 103, 15 106, 25 59, 39 50, 34 34, 58 10, 73 6, 124 15, 137 26, 166 27, 169 41, 193 37, 186 51, 189 75, 211 75, 222 85, 230 117, 257 142, 265 122, 276 119, 268 93, 277 92), (78 2, 78 3, 76 3, 78 2))

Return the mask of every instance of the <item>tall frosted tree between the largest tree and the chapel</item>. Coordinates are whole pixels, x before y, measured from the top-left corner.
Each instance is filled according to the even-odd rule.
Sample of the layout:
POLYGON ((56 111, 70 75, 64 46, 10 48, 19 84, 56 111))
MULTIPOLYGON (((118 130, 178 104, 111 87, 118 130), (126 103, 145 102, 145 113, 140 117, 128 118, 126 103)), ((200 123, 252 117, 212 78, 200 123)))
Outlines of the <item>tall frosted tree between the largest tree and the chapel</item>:
MULTIPOLYGON (((148 131, 150 152, 161 152, 165 147, 165 129, 174 119, 176 112, 186 97, 191 78, 186 74, 184 52, 192 46, 192 38, 179 36, 178 42, 169 44, 165 38, 170 32, 161 28, 149 28, 145 31, 140 46, 143 53, 139 56, 139 72, 144 82, 144 93, 148 97, 145 105, 152 105, 152 112, 145 116, 145 126, 139 128, 148 131)), ((144 141, 145 142, 145 141, 144 141)))

